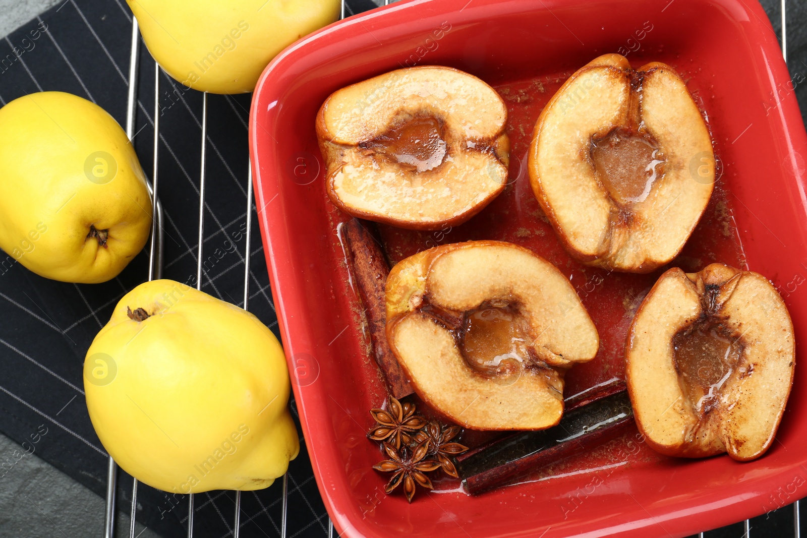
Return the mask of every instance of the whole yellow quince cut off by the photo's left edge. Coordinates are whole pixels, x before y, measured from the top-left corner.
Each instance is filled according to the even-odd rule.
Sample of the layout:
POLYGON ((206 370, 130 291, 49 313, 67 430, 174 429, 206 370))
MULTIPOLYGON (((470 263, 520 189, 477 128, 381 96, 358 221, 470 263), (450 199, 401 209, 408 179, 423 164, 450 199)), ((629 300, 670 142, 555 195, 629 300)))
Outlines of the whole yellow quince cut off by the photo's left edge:
POLYGON ((132 144, 100 106, 28 94, 0 109, 0 248, 43 277, 106 282, 148 240, 152 202, 132 144))

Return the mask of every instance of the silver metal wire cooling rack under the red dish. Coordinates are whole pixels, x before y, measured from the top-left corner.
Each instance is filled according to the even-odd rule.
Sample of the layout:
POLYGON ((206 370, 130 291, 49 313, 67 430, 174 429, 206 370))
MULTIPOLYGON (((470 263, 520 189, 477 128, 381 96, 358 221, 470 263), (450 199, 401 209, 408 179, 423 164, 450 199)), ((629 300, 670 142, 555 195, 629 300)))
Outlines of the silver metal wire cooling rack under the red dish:
MULTIPOLYGON (((390 0, 384 0, 384 5, 387 6, 390 0)), ((788 60, 788 46, 787 46, 787 6, 786 0, 781 0, 781 17, 782 17, 782 55, 784 60, 788 60)), ((341 0, 341 19, 345 19, 345 0, 341 0)), ((128 89, 128 102, 126 109, 126 134, 129 140, 132 140, 135 135, 135 117, 136 117, 136 93, 137 93, 137 68, 140 61, 140 27, 138 26, 137 19, 132 17, 132 52, 129 57, 129 89, 128 89)), ((148 191, 152 195, 153 200, 153 215, 154 224, 151 231, 151 242, 149 246, 148 258, 148 281, 155 278, 162 277, 163 266, 163 212, 160 199, 158 197, 158 177, 157 177, 157 162, 158 162, 158 149, 160 146, 160 73, 161 67, 157 62, 154 63, 154 148, 153 148, 153 172, 152 181, 148 184, 148 191)), ((203 94, 202 104, 202 146, 201 146, 201 173, 199 174, 199 247, 197 251, 197 266, 196 266, 196 289, 202 289, 202 250, 204 244, 203 230, 204 230, 204 204, 205 204, 205 169, 207 162, 207 92, 203 94)), ((252 229, 252 203, 253 203, 253 178, 252 178, 252 163, 249 164, 249 172, 247 178, 247 230, 252 229)), ((248 309, 249 302, 249 252, 251 246, 251 235, 245 234, 245 272, 244 272, 244 309, 248 309)), ((104 523, 104 538, 113 538, 115 534, 115 490, 117 486, 118 465, 109 457, 107 466, 107 504, 106 504, 106 517, 104 523)), ((283 475, 282 482, 282 515, 281 515, 281 538, 286 538, 286 515, 288 513, 288 474, 283 475)), ((801 538, 800 527, 800 507, 799 501, 792 504, 793 507, 793 525, 794 525, 794 538, 801 538)), ((137 508, 137 480, 133 479, 132 485, 132 511, 131 521, 129 527, 129 538, 135 538, 135 515, 137 508)), ((240 536, 240 511, 241 511, 241 492, 236 491, 236 507, 235 514, 233 515, 233 530, 232 535, 234 538, 240 536)), ((194 536, 194 494, 188 495, 188 538, 194 536)), ((744 534, 742 538, 751 538, 751 521, 746 519, 744 522, 744 534)), ((333 538, 333 522, 328 519, 328 538, 333 538)), ((700 538, 704 538, 704 532, 700 532, 700 538)))

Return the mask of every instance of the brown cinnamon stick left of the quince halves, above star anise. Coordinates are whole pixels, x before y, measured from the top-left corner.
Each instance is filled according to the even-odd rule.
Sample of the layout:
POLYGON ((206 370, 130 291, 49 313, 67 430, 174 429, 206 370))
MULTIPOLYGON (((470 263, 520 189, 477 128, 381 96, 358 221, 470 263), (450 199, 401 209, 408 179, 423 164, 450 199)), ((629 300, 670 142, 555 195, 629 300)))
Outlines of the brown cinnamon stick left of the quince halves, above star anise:
POLYGON ((380 242, 371 232, 372 228, 372 223, 352 219, 344 224, 342 230, 353 259, 353 277, 356 279, 359 296, 365 307, 373 356, 387 379, 391 394, 400 399, 412 394, 414 390, 387 344, 387 305, 384 299, 384 286, 390 267, 387 265, 387 256, 380 242))

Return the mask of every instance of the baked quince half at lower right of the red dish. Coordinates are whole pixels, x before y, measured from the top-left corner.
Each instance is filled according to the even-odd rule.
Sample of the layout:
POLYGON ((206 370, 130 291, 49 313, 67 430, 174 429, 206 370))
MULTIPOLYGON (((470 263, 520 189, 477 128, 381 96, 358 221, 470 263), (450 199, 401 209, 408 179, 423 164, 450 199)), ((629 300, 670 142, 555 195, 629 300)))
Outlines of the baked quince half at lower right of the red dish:
POLYGON ((793 341, 788 309, 759 273, 721 264, 663 273, 625 351, 647 443, 668 456, 761 456, 790 394, 793 341))

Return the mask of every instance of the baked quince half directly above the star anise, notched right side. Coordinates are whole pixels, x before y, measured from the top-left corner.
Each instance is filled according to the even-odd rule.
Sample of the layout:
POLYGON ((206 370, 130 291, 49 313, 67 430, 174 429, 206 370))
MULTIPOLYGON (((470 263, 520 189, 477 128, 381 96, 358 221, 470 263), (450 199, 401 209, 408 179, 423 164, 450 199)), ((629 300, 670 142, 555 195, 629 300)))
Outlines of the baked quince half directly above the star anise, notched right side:
POLYGON ((600 346, 558 269, 501 241, 430 248, 387 277, 387 340, 420 398, 464 427, 538 430, 600 346))

